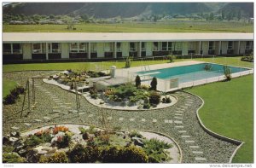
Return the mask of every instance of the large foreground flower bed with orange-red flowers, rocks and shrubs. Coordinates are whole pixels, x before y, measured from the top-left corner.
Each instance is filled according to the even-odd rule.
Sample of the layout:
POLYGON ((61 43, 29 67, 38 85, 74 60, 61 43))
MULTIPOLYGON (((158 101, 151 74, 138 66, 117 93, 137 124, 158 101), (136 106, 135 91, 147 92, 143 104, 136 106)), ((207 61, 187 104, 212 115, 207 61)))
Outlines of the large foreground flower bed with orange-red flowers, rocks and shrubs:
MULTIPOLYGON (((153 133, 150 133, 153 134, 153 133)), ((144 135, 147 135, 144 133, 144 135)), ((147 138, 137 131, 93 126, 46 127, 3 142, 4 163, 162 163, 170 162, 172 140, 147 138), (71 128, 71 129, 70 129, 71 128), (15 141, 13 140, 15 139, 15 141)), ((174 154, 177 160, 179 154, 174 154)))

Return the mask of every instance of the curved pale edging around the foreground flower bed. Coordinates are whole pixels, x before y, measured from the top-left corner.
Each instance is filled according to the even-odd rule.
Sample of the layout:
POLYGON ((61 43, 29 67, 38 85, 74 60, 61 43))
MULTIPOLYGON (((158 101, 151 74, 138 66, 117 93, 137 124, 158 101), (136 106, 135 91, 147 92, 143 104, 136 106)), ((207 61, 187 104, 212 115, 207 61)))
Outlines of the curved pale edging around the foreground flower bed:
MULTIPOLYGON (((23 130, 21 131, 20 133, 25 133, 27 131, 30 131, 30 130, 35 130, 35 129, 39 129, 39 128, 42 128, 44 126, 49 126, 49 125, 87 125, 87 126, 92 126, 90 124, 80 124, 80 123, 51 123, 51 124, 48 124, 48 125, 41 125, 41 126, 38 126, 38 127, 33 127, 31 129, 28 129, 28 130, 23 130)), ((98 127, 96 126, 96 128, 98 129, 102 129, 102 130, 112 130, 112 129, 104 129, 102 127, 98 127)), ((119 130, 119 131, 131 131, 131 130, 119 130)), ((151 132, 151 133, 154 133, 154 134, 159 134, 160 136, 166 136, 167 138, 171 139, 172 142, 174 142, 174 144, 177 146, 177 149, 179 150, 179 154, 180 154, 180 157, 178 159, 178 163, 182 163, 182 160, 183 160, 183 153, 182 153, 182 149, 180 148, 180 146, 178 145, 178 143, 171 137, 171 136, 167 136, 166 134, 164 133, 161 133, 161 132, 156 132, 154 130, 136 130, 136 131, 145 131, 145 132, 151 132)))

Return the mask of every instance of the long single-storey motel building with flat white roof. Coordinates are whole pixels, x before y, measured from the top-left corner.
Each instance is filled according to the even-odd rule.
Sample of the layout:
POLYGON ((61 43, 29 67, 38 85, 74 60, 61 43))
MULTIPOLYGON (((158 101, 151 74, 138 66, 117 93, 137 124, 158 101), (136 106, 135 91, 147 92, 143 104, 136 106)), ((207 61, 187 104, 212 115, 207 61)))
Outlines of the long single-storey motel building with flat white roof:
POLYGON ((252 51, 253 33, 3 33, 3 63, 248 55, 252 51))

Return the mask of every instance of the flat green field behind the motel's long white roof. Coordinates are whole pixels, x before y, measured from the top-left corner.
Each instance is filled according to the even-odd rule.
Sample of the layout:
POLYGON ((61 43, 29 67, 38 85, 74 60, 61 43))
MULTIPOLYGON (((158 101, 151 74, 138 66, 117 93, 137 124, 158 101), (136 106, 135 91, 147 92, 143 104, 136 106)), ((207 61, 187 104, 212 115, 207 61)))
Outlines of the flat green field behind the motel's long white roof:
POLYGON ((253 32, 253 24, 232 21, 169 21, 157 23, 79 24, 76 30, 67 25, 3 25, 3 32, 253 32))

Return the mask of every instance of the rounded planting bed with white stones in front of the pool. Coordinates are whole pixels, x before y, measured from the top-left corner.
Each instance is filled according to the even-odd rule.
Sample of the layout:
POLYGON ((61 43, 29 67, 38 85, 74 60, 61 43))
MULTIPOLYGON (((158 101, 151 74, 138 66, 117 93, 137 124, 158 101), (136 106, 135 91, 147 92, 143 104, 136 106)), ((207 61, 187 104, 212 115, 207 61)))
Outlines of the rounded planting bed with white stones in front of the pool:
POLYGON ((89 93, 85 97, 92 104, 115 109, 154 109, 169 107, 177 102, 173 96, 150 90, 147 85, 136 87, 134 84, 122 84, 108 90, 90 89, 89 93))

